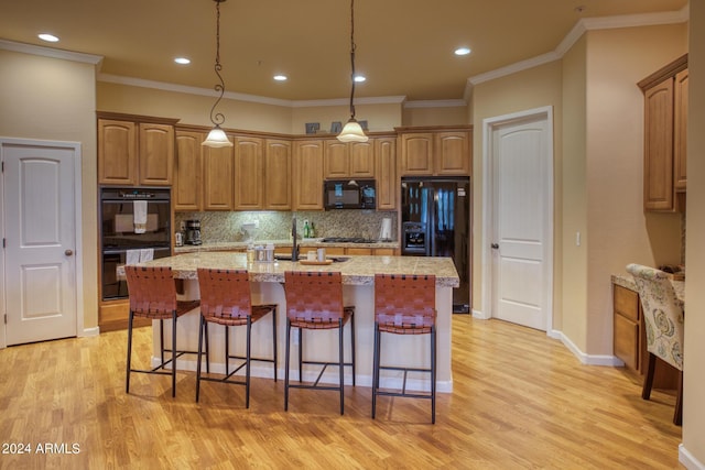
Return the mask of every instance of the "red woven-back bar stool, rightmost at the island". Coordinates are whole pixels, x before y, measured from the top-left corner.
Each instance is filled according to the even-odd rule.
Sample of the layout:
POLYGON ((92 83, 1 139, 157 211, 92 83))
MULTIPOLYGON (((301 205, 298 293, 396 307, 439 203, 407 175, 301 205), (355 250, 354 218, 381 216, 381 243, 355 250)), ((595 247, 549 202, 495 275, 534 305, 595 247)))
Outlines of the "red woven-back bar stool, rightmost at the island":
POLYGON ((405 396, 431 400, 431 422, 436 422, 436 277, 434 275, 376 274, 375 275, 375 359, 372 369, 372 418, 377 396, 405 396), (381 334, 429 335, 431 340, 430 368, 380 365, 381 334), (401 391, 380 390, 380 370, 403 371, 401 391), (431 374, 431 393, 406 392, 409 372, 431 374))

